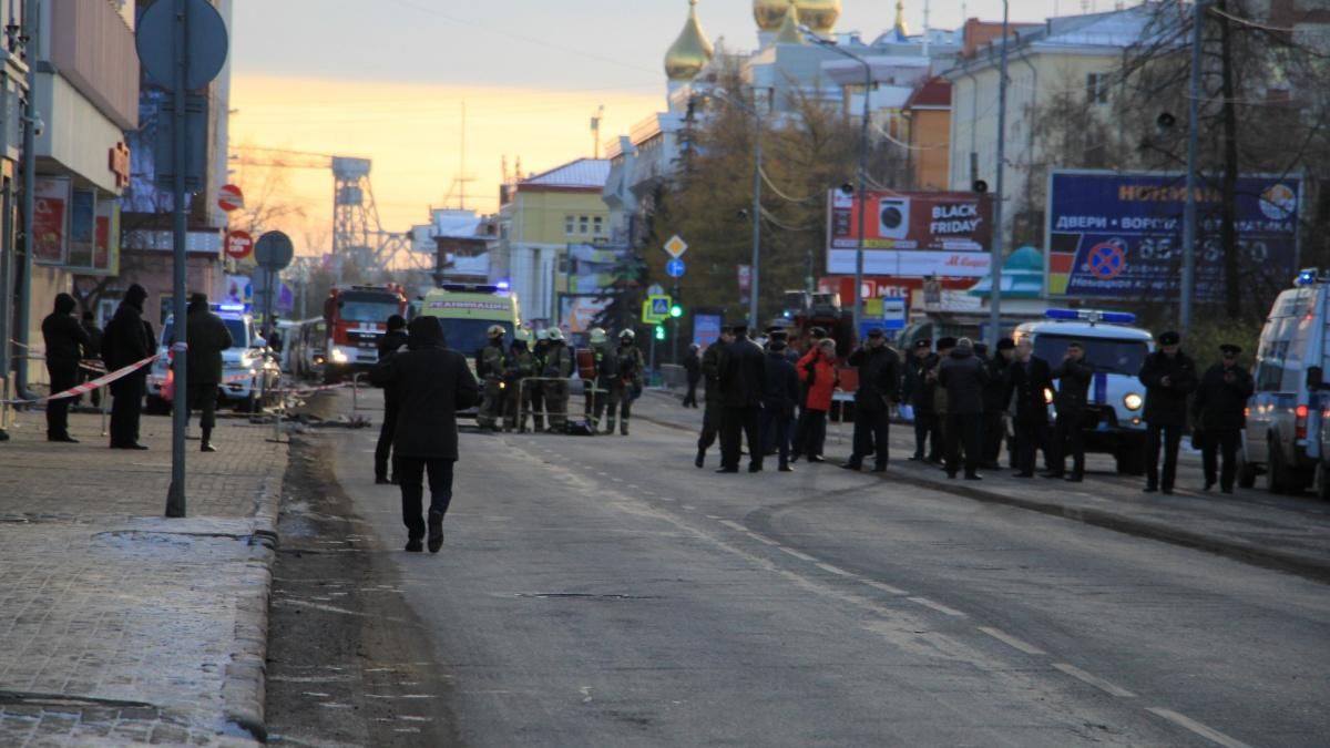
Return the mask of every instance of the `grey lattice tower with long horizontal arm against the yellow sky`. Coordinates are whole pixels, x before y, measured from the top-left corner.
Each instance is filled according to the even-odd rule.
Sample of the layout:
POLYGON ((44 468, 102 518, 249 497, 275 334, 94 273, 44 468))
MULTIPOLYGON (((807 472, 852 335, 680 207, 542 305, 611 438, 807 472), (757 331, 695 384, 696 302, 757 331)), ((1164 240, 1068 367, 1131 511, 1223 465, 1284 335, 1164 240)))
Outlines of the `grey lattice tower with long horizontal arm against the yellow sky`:
POLYGON ((339 262, 352 262, 366 270, 402 265, 415 270, 428 269, 426 265, 432 268, 434 256, 423 257, 414 252, 410 233, 383 230, 374 204, 368 158, 242 146, 231 156, 231 162, 271 169, 331 170, 332 256, 339 262))

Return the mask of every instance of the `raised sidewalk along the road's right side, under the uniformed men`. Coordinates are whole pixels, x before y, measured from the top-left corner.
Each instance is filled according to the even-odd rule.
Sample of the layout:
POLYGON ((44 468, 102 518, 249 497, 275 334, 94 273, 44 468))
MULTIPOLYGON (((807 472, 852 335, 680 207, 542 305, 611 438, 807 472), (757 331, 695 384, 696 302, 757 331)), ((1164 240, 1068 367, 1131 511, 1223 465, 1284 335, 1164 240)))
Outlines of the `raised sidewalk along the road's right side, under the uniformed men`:
MULTIPOLYGON (((658 390, 648 391, 634 405, 633 415, 693 433, 700 430, 702 421, 701 409, 680 407, 678 395, 658 390)), ((839 437, 835 423, 829 423, 827 431, 827 462, 817 470, 835 468, 850 453, 849 423, 839 427, 839 437)), ((908 462, 906 458, 911 454, 912 427, 894 423, 892 461, 883 479, 1063 516, 1330 582, 1330 504, 1310 495, 1275 496, 1256 488, 1237 488, 1232 495, 1217 490, 1202 492, 1197 458, 1180 461, 1176 492, 1165 496, 1142 492, 1144 478, 1117 475, 1108 455, 1087 455, 1089 474, 1085 482, 1067 483, 1017 479, 1007 468, 984 472, 982 482, 952 480, 935 466, 908 462)))

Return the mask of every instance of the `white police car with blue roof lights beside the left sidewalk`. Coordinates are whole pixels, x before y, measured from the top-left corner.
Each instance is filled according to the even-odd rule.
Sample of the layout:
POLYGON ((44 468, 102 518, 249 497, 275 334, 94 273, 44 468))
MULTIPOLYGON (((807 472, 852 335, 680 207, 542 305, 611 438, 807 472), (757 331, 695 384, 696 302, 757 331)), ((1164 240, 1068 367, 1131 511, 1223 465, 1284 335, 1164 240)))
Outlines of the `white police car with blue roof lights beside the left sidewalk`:
MULTIPOLYGON (((254 327, 254 318, 247 305, 213 303, 210 309, 222 318, 231 333, 231 347, 222 351, 222 385, 219 394, 223 402, 230 402, 235 410, 255 413, 277 402, 281 389, 282 370, 267 342, 254 327)), ((166 370, 170 367, 168 351, 174 334, 174 318, 162 325, 157 353, 148 377, 148 413, 168 413, 170 402, 162 397, 166 370)), ((221 405, 221 403, 218 403, 221 405)))

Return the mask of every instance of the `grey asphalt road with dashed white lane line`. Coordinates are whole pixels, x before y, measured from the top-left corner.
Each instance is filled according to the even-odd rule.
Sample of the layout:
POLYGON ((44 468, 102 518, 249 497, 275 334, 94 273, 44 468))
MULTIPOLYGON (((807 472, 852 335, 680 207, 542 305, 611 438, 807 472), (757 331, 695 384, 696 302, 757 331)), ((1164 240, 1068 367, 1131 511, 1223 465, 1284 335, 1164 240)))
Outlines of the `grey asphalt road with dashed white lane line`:
POLYGON ((716 475, 640 421, 464 434, 444 550, 404 554, 374 434, 322 438, 458 744, 1330 735, 1330 596, 1297 576, 830 463, 716 475))

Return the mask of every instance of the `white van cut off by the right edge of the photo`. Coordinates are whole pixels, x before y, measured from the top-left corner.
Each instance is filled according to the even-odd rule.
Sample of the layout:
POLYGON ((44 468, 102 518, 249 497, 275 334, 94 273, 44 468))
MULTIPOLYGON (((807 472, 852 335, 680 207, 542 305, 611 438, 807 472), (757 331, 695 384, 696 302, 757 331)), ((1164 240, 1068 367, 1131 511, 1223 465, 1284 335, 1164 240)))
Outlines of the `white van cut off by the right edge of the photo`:
POLYGON ((1270 492, 1311 486, 1326 447, 1321 435, 1330 393, 1330 276, 1302 270, 1270 307, 1256 351, 1256 394, 1248 403, 1238 484, 1265 474, 1270 492))

